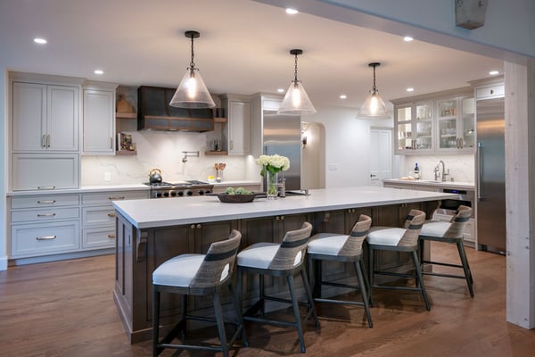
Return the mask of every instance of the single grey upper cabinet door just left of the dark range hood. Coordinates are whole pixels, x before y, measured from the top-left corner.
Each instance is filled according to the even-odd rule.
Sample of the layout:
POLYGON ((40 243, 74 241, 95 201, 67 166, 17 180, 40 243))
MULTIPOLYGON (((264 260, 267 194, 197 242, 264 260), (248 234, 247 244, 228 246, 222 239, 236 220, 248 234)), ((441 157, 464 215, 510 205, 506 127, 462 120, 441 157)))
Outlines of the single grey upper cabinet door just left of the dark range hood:
POLYGON ((115 153, 114 112, 114 92, 95 89, 84 90, 84 154, 112 155, 115 153))

